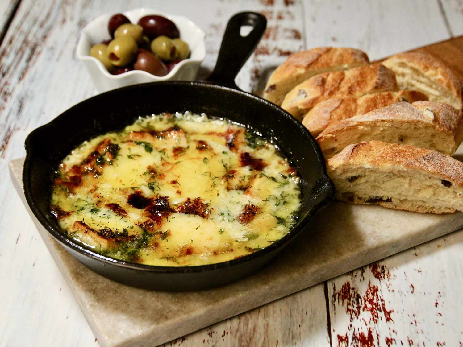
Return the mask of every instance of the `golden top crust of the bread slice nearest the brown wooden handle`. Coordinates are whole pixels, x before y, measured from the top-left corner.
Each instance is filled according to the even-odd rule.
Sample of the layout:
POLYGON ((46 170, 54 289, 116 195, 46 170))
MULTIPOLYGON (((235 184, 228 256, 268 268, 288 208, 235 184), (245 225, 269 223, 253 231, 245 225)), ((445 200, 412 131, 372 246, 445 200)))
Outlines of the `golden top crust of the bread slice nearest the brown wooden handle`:
MULTIPOLYGON (((385 66, 396 70, 400 64, 421 71, 428 78, 437 81, 442 87, 448 89, 451 94, 458 100, 458 105, 453 105, 461 110, 463 106, 462 82, 456 74, 440 59, 429 53, 409 52, 399 53, 382 62, 385 66)), ((399 86, 402 89, 402 86, 399 86)), ((410 87, 408 87, 410 88, 410 87)), ((432 99, 432 101, 436 101, 432 99)))

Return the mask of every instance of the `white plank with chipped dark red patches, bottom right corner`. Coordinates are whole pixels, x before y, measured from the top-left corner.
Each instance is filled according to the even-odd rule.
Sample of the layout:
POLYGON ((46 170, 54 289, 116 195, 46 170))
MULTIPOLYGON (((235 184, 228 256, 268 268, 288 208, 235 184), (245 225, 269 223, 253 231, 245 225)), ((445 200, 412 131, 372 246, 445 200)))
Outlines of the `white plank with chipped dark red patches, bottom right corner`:
POLYGON ((463 231, 329 281, 332 346, 461 346, 463 231))

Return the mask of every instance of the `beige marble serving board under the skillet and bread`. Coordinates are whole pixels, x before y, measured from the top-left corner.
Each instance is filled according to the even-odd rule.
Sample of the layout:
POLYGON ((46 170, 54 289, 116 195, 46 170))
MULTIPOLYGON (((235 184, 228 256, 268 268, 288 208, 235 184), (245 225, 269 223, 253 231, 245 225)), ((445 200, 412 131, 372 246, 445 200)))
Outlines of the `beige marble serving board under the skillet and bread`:
POLYGON ((248 278, 207 291, 146 291, 92 272, 50 236, 25 202, 23 162, 10 162, 13 185, 101 346, 155 346, 463 227, 461 212, 334 202, 248 278))

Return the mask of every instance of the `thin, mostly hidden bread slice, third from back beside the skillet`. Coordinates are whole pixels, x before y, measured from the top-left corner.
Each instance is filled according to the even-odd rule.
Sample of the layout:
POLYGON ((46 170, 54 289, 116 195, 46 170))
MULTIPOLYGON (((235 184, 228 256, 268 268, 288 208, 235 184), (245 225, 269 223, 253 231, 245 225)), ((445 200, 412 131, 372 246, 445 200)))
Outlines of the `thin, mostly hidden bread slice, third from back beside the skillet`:
POLYGON ((313 106, 313 109, 304 116, 302 124, 313 136, 318 136, 326 127, 340 120, 365 114, 400 101, 412 103, 427 99, 425 94, 414 90, 366 94, 359 98, 328 99, 313 106))

